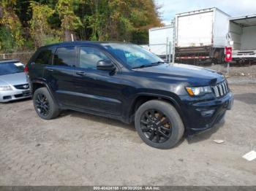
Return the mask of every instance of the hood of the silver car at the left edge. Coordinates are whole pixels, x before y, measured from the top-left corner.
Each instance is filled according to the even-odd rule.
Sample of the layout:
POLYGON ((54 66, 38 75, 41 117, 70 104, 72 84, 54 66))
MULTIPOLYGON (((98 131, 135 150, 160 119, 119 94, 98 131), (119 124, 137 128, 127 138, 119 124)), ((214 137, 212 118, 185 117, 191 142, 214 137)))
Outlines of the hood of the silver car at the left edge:
POLYGON ((0 76, 0 85, 23 85, 27 83, 24 72, 0 76))

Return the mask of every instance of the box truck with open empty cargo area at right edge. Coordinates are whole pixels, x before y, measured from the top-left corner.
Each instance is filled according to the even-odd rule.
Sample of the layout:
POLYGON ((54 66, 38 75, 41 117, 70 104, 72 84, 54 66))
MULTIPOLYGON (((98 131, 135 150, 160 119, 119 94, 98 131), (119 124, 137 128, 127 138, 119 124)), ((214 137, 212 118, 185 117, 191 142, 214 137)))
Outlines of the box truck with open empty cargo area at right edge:
POLYGON ((238 63, 256 61, 256 15, 230 18, 229 46, 232 58, 238 63))

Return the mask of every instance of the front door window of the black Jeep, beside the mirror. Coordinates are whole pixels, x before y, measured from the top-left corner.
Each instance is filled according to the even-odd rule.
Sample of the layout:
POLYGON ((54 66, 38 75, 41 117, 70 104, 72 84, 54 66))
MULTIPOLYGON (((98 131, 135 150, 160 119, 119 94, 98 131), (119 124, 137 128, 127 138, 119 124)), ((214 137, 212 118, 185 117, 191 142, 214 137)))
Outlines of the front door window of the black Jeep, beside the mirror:
POLYGON ((96 69, 97 62, 109 60, 108 57, 94 47, 80 47, 80 67, 84 69, 96 69))

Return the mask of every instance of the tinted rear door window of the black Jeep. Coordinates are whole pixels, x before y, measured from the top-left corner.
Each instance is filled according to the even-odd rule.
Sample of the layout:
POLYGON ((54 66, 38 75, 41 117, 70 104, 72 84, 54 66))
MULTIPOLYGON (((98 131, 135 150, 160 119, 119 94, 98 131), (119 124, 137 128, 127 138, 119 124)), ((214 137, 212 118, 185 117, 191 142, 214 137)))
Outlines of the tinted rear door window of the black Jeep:
POLYGON ((53 64, 58 66, 75 66, 75 47, 57 48, 53 64))

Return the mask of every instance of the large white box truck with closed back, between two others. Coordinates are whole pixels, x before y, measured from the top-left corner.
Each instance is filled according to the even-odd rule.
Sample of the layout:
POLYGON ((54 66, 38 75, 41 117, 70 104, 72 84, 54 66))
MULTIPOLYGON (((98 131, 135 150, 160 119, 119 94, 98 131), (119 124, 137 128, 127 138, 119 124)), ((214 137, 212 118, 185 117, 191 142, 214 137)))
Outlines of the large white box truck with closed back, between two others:
POLYGON ((176 62, 222 63, 229 18, 215 7, 176 14, 176 62))

